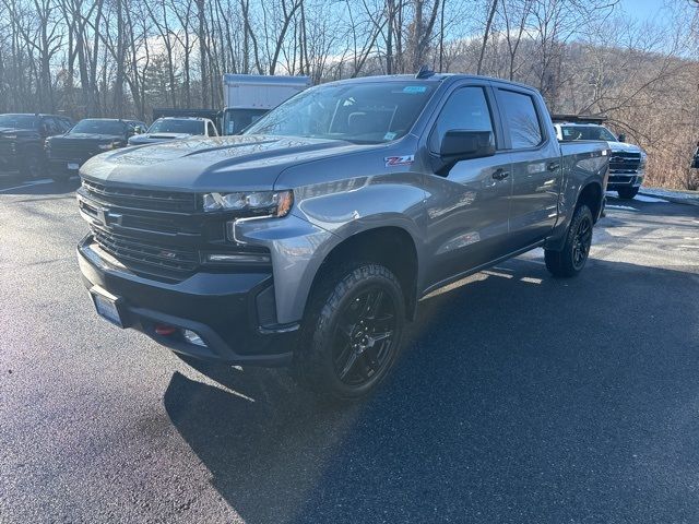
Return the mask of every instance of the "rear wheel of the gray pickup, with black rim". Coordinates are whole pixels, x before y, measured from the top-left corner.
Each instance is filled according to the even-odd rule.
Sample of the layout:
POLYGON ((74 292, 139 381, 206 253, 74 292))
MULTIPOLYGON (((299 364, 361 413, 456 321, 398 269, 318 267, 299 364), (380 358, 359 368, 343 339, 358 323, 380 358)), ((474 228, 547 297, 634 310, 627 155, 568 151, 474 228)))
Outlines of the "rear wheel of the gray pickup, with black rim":
POLYGON ((544 251, 546 269, 554 276, 576 276, 582 271, 592 246, 592 212, 581 204, 576 209, 566 235, 566 243, 560 251, 544 251))

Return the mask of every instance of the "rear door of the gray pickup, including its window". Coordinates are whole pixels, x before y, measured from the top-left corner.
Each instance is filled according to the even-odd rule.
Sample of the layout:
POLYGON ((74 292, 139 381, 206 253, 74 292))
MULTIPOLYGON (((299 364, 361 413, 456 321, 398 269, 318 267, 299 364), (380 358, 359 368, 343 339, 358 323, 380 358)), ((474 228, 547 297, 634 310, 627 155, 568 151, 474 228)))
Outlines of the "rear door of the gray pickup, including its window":
POLYGON ((545 238, 554 227, 562 179, 560 147, 544 122, 534 93, 496 86, 498 107, 512 159, 510 235, 514 249, 545 238))

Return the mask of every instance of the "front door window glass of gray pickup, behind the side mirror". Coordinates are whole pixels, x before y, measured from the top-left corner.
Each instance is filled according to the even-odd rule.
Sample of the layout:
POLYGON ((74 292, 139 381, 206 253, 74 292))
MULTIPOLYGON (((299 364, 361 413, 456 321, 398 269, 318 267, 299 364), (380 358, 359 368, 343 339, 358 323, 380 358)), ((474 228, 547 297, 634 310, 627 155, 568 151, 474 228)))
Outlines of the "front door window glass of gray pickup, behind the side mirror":
POLYGON ((493 120, 483 87, 461 87, 453 92, 439 112, 430 138, 430 150, 439 151, 447 131, 490 131, 493 120))

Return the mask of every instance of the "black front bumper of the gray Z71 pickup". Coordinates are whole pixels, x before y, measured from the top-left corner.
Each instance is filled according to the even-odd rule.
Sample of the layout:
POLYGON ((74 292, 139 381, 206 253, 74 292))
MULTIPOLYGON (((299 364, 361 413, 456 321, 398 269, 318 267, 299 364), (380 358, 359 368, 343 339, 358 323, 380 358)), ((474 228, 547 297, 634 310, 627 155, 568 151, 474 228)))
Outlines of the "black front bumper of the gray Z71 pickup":
POLYGON ((292 360, 298 324, 262 329, 260 315, 273 297, 270 273, 196 273, 168 284, 146 279, 100 252, 92 235, 78 245, 83 283, 119 298, 125 327, 137 329, 176 353, 227 365, 285 366, 292 360), (169 335, 156 326, 174 326, 169 335), (182 330, 199 334, 192 344, 182 330))

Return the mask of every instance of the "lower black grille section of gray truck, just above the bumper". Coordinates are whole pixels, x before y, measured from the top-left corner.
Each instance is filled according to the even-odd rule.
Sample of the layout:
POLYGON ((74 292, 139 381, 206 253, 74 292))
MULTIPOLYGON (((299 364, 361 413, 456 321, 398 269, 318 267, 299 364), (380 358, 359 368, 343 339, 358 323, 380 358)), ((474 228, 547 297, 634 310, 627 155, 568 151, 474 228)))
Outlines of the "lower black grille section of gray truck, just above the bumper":
POLYGON ((199 266, 193 248, 137 240, 92 226, 95 242, 107 253, 137 273, 179 281, 199 266))

